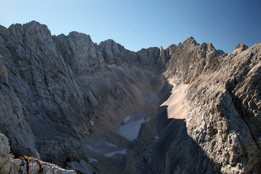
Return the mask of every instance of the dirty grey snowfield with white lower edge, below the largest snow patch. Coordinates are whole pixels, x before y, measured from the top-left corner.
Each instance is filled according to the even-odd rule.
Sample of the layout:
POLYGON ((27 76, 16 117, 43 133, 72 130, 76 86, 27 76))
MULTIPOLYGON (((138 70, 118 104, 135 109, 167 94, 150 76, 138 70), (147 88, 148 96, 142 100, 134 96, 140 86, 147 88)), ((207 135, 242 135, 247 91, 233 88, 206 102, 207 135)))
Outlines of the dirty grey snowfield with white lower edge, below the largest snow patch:
POLYGON ((93 144, 84 144, 87 146, 91 151, 104 155, 106 157, 112 157, 116 153, 126 153, 126 148, 119 148, 115 144, 111 144, 107 141, 107 137, 102 137, 98 139, 98 141, 93 144))

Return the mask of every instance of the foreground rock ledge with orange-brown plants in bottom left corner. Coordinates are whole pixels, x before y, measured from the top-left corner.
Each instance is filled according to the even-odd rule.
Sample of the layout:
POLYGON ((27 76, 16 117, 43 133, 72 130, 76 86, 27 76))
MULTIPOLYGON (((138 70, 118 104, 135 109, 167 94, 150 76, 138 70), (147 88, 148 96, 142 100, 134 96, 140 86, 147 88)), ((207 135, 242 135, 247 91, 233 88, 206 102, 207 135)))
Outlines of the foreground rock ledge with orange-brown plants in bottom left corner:
POLYGON ((8 138, 0 134, 0 173, 3 174, 76 174, 55 164, 43 162, 34 157, 10 154, 8 138), (17 156, 17 157, 15 157, 17 156))

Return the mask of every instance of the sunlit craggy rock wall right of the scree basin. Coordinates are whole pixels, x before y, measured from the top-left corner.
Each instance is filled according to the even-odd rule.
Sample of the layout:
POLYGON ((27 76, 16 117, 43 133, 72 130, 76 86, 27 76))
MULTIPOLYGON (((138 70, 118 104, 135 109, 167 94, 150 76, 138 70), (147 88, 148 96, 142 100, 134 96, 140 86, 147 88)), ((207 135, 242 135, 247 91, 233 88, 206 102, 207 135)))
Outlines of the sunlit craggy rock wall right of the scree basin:
MULTIPOLYGON (((187 41, 188 39, 183 44, 187 41)), ((211 44, 191 45, 193 51, 205 45, 203 53, 197 54, 203 55, 202 59, 192 56, 192 53, 188 54, 191 56, 189 60, 197 60, 197 66, 191 66, 191 69, 181 66, 182 69, 178 71, 177 68, 169 68, 165 72, 177 83, 190 84, 184 98, 189 108, 186 114, 186 133, 183 132, 174 142, 171 154, 175 159, 177 154, 181 153, 181 147, 191 151, 190 147, 193 145, 184 143, 181 138, 186 134, 195 141, 194 146, 199 146, 203 151, 199 150, 196 157, 191 155, 195 151, 189 153, 189 158, 194 158, 190 165, 183 160, 174 161, 173 166, 176 167, 173 171, 189 172, 192 166, 204 173, 213 173, 215 170, 222 173, 259 173, 261 44, 250 48, 239 44, 235 51, 223 55, 211 44), (188 73, 182 76, 180 72, 186 71, 188 73), (179 76, 182 78, 179 79, 179 76), (202 161, 204 156, 209 157, 216 166, 209 166, 211 163, 202 161), (207 168, 214 168, 214 171, 207 168)), ((186 59, 186 56, 182 57, 184 58, 186 59)), ((173 61, 177 64, 183 61, 175 56, 172 59, 175 59, 173 61)), ((168 64, 171 62, 172 60, 168 64)))

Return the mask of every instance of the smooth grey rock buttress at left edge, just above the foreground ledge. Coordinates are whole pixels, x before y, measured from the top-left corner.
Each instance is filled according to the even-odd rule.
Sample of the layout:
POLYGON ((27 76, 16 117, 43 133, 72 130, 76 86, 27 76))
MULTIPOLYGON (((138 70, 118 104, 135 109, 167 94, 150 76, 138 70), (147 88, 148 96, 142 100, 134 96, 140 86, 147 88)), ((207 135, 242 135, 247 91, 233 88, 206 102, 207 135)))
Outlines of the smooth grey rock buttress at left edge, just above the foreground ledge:
POLYGON ((12 152, 35 156, 35 139, 29 126, 29 114, 8 83, 8 73, 0 63, 0 132, 8 135, 12 152))

